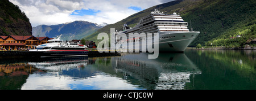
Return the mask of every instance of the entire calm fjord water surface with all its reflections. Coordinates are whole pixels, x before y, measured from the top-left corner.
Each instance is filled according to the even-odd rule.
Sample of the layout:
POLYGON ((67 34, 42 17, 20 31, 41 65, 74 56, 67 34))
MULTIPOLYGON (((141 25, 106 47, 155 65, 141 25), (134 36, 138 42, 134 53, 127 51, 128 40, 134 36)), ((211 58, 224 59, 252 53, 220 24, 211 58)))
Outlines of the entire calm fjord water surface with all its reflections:
POLYGON ((256 89, 255 50, 0 59, 0 89, 256 89))

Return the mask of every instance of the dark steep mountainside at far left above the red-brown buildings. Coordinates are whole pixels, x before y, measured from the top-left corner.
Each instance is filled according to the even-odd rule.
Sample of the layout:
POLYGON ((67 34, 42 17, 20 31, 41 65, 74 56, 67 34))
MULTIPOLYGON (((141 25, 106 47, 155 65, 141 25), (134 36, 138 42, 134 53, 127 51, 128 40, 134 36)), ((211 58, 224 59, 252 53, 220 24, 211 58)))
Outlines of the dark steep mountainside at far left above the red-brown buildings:
POLYGON ((0 36, 31 36, 32 26, 28 17, 9 0, 0 1, 0 36))

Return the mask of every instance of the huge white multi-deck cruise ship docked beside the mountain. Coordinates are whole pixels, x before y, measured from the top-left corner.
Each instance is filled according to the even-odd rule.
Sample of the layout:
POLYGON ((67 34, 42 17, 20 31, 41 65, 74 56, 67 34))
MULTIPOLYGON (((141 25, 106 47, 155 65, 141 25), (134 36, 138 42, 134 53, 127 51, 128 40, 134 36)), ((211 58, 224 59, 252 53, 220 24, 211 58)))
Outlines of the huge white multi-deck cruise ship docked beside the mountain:
POLYGON ((152 36, 154 36, 154 33, 159 33, 159 51, 184 52, 200 32, 194 32, 192 28, 189 31, 188 23, 184 22, 182 17, 175 12, 173 14, 164 14, 158 9, 155 9, 151 14, 144 16, 134 28, 130 28, 127 24, 124 24, 121 31, 115 32, 115 39, 121 37, 119 33, 125 33, 127 39, 119 39, 115 44, 121 44, 125 41, 128 46, 129 42, 133 42, 135 45, 135 42, 139 41, 141 51, 142 48, 146 48, 147 46, 141 45, 142 41, 148 38, 135 36, 135 38, 129 39, 129 33, 152 33, 152 36))

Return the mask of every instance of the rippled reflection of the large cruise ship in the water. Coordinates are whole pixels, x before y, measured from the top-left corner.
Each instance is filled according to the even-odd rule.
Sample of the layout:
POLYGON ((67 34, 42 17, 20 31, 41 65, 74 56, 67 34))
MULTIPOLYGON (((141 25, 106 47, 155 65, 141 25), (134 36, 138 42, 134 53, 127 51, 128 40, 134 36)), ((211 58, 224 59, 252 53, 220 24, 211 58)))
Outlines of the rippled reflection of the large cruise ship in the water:
POLYGON ((147 56, 141 53, 115 57, 112 66, 124 73, 127 81, 146 89, 184 89, 191 74, 201 74, 185 54, 164 53, 158 59, 147 59, 147 56), (139 84, 133 82, 134 78, 139 84))

